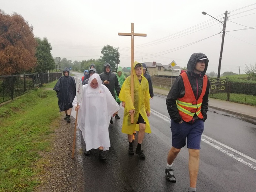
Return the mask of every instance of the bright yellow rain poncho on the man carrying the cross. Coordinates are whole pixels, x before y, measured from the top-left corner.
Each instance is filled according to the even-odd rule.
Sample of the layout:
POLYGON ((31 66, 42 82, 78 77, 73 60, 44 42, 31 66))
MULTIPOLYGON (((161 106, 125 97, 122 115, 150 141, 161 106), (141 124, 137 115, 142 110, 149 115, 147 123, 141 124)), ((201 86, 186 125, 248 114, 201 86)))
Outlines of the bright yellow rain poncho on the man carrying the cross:
POLYGON ((134 130, 139 131, 139 124, 136 124, 139 119, 139 114, 141 114, 146 122, 145 133, 151 133, 149 120, 146 113, 146 111, 150 112, 149 82, 142 73, 141 83, 139 83, 139 79, 134 70, 135 65, 138 63, 139 62, 135 61, 132 68, 134 74, 134 104, 132 103, 131 97, 131 76, 127 77, 127 79, 124 81, 119 94, 119 99, 125 102, 122 132, 130 135, 133 134, 134 130), (129 110, 132 109, 135 110, 133 124, 131 124, 131 116, 129 114, 129 110))

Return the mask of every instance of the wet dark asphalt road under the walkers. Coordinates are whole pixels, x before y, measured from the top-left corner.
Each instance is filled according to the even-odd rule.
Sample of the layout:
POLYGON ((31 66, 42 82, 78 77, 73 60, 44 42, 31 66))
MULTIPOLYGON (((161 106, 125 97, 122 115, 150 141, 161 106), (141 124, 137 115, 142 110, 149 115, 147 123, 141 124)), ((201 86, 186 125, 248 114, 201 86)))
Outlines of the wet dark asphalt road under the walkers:
MULTIPOLYGON (((83 155, 86 192, 187 192, 189 188, 188 149, 182 148, 174 161, 176 183, 165 178, 167 154, 171 147, 170 119, 165 96, 156 95, 149 117, 151 134, 141 145, 145 160, 128 155, 127 135, 121 119, 109 126, 111 147, 107 160, 100 162, 98 151, 83 155)), ((201 141, 198 192, 252 192, 256 189, 256 125, 238 116, 209 109, 201 141)), ((134 149, 137 145, 137 136, 134 149)), ((82 148, 85 143, 82 140, 82 148)))

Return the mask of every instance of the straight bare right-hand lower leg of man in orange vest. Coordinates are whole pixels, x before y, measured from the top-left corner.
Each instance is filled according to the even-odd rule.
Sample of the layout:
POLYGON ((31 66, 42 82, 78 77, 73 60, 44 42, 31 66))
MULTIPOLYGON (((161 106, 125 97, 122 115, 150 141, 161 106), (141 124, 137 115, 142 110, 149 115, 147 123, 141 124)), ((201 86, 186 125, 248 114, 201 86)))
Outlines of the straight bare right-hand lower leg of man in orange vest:
POLYGON ((195 186, 197 185, 200 150, 188 149, 188 152, 188 170, 190 172, 190 187, 195 188, 195 186))

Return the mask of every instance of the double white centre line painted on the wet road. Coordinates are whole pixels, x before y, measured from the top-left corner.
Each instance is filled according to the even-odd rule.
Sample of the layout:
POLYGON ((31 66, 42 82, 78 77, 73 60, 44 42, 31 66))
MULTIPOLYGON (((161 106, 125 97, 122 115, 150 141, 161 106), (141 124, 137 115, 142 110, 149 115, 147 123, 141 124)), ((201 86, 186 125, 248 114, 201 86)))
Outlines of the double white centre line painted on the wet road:
MULTIPOLYGON (((164 120, 164 121, 170 123, 171 120, 170 120, 169 117, 165 116, 164 114, 161 114, 161 113, 157 112, 156 110, 153 110, 153 109, 150 109, 150 110, 151 110, 151 114, 153 114, 153 115, 159 117, 160 119, 162 119, 162 120, 164 120)), ((244 157, 244 158, 246 158, 246 159, 248 159, 248 160, 253 161, 253 162, 256 163, 256 160, 253 159, 252 157, 249 157, 248 155, 245 155, 245 154, 243 154, 243 153, 240 152, 240 151, 237 151, 237 150, 235 150, 235 149, 233 149, 233 148, 231 148, 231 147, 229 147, 229 146, 227 146, 227 145, 225 145, 225 144, 223 144, 223 143, 221 143, 221 142, 219 142, 219 141, 217 141, 217 140, 215 140, 215 139, 213 139, 213 138, 211 138, 211 137, 208 137, 208 136, 206 136, 205 134, 202 134, 202 136, 205 137, 205 138, 207 138, 208 140, 211 140, 211 141, 213 141, 213 142, 215 142, 215 143, 217 143, 217 144, 219 144, 219 145, 221 145, 221 146, 227 148, 228 150, 231 150, 231 151, 237 153, 238 155, 240 155, 240 156, 242 156, 242 157, 244 157)), ((242 158, 240 158, 240 157, 238 157, 238 156, 232 154, 231 152, 228 152, 228 151, 224 150, 223 148, 221 148, 221 147, 219 147, 219 146, 217 146, 217 145, 211 143, 211 142, 208 141, 208 140, 201 139, 201 141, 204 141, 205 143, 207 143, 207 144, 211 145, 212 147, 218 149, 219 151, 221 151, 221 152, 223 152, 223 153, 229 155, 230 157, 234 158, 235 160, 238 160, 238 161, 242 162, 243 164, 248 165, 250 168, 253 168, 253 169, 256 170, 256 166, 254 166, 254 165, 250 164, 249 162, 243 160, 242 158)))

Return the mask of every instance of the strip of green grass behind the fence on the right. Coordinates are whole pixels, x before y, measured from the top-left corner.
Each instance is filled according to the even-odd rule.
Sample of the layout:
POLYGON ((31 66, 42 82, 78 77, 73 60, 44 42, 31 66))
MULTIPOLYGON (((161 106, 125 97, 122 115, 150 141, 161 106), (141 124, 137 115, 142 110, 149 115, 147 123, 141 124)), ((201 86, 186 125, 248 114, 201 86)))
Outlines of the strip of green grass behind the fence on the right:
MULTIPOLYGON (((210 98, 226 100, 227 93, 215 93, 210 94, 210 98)), ((243 104, 250 104, 256 106, 256 96, 254 95, 245 95, 245 94, 238 94, 238 93, 230 93, 229 101, 235 103, 243 103, 243 104)))

